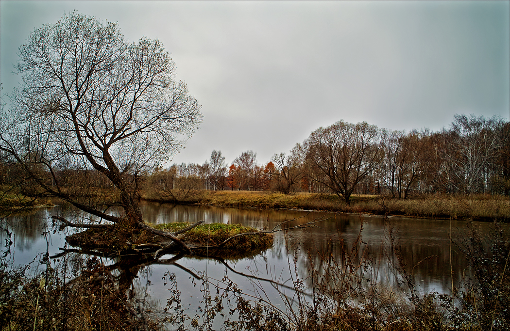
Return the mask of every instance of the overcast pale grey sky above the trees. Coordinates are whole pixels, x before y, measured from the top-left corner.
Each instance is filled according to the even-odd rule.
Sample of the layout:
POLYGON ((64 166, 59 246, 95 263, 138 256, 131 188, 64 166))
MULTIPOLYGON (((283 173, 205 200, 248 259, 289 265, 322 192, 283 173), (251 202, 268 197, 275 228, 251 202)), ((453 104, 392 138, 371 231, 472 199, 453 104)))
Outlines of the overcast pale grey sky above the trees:
POLYGON ((203 121, 172 163, 259 164, 344 120, 406 130, 510 117, 510 2, 1 1, 2 93, 18 47, 76 10, 159 39, 203 121))

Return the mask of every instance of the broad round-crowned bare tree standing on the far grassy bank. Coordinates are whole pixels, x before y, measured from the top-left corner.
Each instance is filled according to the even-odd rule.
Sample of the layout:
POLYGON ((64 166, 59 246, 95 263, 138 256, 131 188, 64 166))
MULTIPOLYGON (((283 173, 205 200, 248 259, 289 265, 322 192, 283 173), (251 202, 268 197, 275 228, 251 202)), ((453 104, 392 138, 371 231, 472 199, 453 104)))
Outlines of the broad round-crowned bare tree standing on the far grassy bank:
POLYGON ((356 184, 375 169, 383 155, 379 130, 366 122, 339 121, 320 127, 310 134, 305 148, 309 176, 348 205, 356 184))

